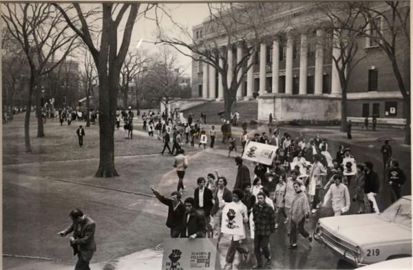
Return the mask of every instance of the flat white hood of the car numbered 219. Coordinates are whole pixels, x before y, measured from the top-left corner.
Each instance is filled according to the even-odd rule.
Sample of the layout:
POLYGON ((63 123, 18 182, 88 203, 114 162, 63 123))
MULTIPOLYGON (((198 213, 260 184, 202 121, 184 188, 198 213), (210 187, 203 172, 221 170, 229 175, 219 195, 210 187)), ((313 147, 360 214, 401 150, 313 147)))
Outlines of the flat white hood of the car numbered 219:
POLYGON ((378 214, 332 216, 320 218, 319 222, 328 232, 354 246, 412 239, 411 229, 385 221, 378 214))

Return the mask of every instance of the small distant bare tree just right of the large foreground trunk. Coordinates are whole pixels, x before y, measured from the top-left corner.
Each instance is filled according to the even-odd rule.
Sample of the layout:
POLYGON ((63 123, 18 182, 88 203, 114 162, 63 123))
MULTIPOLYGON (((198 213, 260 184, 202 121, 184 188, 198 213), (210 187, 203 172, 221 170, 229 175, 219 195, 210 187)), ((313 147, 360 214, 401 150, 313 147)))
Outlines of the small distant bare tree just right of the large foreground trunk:
MULTIPOLYGON (((142 54, 142 51, 135 50, 128 52, 123 63, 122 69, 120 69, 120 84, 119 94, 123 98, 123 107, 127 109, 127 97, 129 94, 129 83, 136 78, 136 76, 142 71, 142 65, 145 64, 147 59, 142 54), (144 58, 142 58, 142 56, 144 58)), ((137 87, 137 86, 136 86, 137 87)))

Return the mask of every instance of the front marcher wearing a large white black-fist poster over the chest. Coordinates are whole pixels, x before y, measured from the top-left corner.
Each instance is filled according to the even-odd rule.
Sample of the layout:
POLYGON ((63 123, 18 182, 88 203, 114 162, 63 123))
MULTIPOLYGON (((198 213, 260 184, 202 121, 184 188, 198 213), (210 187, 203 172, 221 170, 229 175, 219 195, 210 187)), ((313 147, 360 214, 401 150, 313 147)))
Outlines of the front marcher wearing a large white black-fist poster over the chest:
POLYGON ((244 260, 248 258, 248 251, 240 244, 240 239, 245 238, 244 223, 248 222, 248 210, 241 201, 243 198, 244 192, 236 188, 233 190, 233 201, 227 203, 222 212, 222 232, 231 236, 224 269, 231 269, 236 251, 242 254, 244 260))

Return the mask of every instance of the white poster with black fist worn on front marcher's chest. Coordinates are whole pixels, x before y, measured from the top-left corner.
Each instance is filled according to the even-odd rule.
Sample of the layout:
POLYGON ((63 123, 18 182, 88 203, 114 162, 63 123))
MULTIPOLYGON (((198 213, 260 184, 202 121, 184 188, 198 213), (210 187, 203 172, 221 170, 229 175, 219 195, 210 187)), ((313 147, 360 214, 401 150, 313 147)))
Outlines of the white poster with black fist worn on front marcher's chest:
POLYGON ((233 203, 227 203, 222 210, 221 232, 224 234, 244 235, 242 214, 233 203))

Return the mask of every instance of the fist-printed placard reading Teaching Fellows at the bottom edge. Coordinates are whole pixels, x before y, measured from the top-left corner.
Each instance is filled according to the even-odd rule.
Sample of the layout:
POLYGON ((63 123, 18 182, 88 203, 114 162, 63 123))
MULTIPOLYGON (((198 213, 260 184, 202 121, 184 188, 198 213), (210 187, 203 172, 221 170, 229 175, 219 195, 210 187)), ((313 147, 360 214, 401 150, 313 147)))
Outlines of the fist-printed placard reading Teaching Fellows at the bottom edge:
POLYGON ((166 238, 162 270, 214 270, 216 253, 216 239, 166 238))

